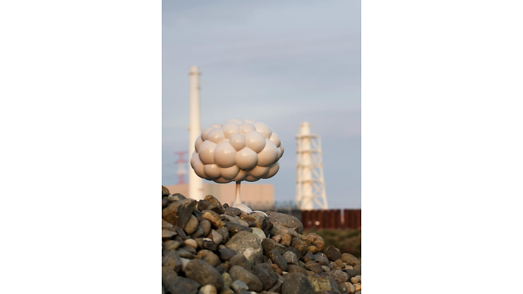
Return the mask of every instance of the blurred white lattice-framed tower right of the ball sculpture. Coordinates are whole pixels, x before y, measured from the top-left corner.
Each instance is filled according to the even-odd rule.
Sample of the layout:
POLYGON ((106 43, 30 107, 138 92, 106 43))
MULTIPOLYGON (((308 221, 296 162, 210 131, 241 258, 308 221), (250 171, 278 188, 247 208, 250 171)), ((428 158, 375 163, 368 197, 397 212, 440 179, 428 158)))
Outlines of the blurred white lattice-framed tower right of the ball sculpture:
POLYGON ((300 125, 296 135, 296 206, 301 210, 328 209, 325 194, 324 168, 321 160, 321 139, 310 134, 310 124, 300 125))

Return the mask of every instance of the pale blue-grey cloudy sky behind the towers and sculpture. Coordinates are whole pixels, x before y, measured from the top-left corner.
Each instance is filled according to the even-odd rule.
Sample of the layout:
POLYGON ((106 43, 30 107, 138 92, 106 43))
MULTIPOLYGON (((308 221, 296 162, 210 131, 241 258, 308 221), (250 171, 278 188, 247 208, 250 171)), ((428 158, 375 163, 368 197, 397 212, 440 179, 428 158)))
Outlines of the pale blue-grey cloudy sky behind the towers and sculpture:
POLYGON ((202 129, 240 118, 280 135, 280 171, 255 182, 273 184, 275 201, 295 200, 295 136, 308 121, 329 208, 361 208, 360 1, 163 1, 162 185, 176 184, 174 152, 188 148, 191 65, 202 129))

